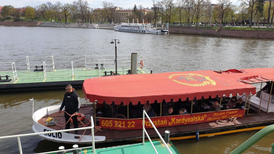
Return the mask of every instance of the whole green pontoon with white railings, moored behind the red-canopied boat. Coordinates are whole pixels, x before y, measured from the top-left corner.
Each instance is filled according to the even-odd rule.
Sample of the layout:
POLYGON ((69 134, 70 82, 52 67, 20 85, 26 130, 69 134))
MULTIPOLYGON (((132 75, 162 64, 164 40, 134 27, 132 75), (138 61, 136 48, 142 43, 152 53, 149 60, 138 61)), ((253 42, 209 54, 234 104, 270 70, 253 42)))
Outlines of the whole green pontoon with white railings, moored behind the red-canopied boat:
POLYGON ((53 56, 27 56, 25 66, 19 69, 15 62, 0 62, 0 92, 64 88, 68 84, 82 87, 89 78, 150 73, 147 59, 140 54, 117 55, 116 60, 114 57, 84 55, 76 62, 65 62, 53 56))

